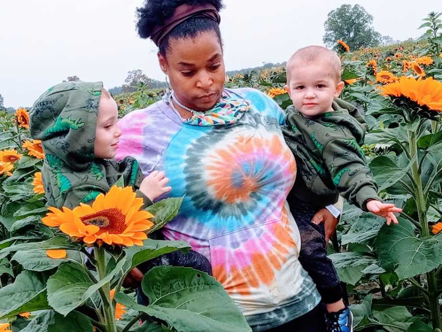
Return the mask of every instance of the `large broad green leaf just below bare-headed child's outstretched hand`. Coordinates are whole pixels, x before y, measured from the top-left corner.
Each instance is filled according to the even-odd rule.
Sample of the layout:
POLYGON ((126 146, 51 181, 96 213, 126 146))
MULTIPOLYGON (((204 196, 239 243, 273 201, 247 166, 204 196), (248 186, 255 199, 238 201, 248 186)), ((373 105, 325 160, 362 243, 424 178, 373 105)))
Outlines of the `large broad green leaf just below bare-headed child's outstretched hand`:
POLYGON ((400 280, 439 267, 442 264, 441 237, 417 238, 414 225, 399 219, 398 225, 384 225, 375 240, 381 266, 396 272, 400 280))

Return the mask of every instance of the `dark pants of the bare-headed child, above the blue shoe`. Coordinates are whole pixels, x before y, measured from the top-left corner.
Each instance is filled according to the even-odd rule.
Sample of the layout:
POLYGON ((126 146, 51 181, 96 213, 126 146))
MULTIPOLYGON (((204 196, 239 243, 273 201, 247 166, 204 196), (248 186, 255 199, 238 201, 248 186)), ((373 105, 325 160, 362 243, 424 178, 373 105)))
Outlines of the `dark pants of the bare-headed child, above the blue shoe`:
POLYGON ((339 301, 343 291, 336 269, 327 257, 324 224, 311 222, 313 215, 322 207, 299 200, 291 200, 289 204, 301 234, 300 263, 313 279, 324 303, 339 301))

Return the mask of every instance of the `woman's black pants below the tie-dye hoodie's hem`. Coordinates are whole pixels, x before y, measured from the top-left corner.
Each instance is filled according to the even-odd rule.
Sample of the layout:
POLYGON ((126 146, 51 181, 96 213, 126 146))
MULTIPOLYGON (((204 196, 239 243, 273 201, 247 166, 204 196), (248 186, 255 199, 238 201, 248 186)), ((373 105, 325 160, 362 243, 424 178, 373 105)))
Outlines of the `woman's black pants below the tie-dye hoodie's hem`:
POLYGON ((301 317, 266 332, 326 332, 325 308, 322 303, 301 317))

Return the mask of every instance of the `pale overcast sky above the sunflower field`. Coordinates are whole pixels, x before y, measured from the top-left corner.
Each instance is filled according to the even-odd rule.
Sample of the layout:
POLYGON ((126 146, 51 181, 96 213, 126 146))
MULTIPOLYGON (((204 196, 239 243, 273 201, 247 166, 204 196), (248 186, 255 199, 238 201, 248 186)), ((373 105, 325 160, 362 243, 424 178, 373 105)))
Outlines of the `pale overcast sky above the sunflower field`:
MULTIPOLYGON (((120 86, 132 69, 164 81, 155 45, 135 30, 143 0, 0 0, 0 94, 5 107, 31 106, 50 86, 77 75, 120 86)), ((393 39, 418 37, 421 19, 441 0, 224 0, 221 33, 227 70, 282 62, 322 45, 327 14, 360 4, 374 28, 393 39)))

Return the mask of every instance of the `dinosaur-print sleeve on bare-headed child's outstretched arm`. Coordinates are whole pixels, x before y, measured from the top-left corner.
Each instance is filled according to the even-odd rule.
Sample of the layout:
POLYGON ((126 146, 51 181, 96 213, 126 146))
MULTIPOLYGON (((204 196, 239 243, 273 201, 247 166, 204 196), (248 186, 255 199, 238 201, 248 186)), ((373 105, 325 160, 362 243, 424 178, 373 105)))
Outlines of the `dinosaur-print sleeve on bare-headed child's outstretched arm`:
POLYGON ((362 149, 354 138, 333 138, 323 148, 322 157, 334 186, 350 203, 367 211, 368 199, 382 202, 362 149))

